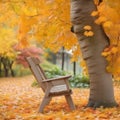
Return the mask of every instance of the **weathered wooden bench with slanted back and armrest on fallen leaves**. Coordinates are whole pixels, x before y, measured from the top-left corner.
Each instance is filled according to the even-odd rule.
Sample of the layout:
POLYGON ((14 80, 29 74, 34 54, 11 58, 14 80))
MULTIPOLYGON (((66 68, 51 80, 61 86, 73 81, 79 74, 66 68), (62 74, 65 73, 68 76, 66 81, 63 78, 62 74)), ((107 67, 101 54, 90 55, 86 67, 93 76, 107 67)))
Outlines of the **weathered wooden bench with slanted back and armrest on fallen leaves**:
POLYGON ((75 105, 71 98, 72 90, 70 89, 68 82, 68 79, 71 76, 68 75, 68 76, 61 76, 58 78, 47 79, 43 69, 40 66, 40 61, 38 58, 27 57, 26 60, 38 84, 45 93, 38 112, 41 113, 43 112, 44 107, 50 102, 52 97, 60 96, 60 95, 65 96, 65 99, 69 107, 71 108, 71 110, 74 110, 75 105))

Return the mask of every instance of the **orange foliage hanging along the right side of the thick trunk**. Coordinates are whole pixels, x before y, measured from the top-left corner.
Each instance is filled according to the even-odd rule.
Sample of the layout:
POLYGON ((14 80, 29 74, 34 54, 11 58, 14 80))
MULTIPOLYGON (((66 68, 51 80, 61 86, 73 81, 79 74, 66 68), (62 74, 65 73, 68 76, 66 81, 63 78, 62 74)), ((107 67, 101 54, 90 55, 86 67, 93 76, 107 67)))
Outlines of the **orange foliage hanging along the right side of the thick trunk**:
POLYGON ((104 49, 102 56, 108 61, 107 71, 111 72, 115 79, 120 78, 120 1, 103 0, 97 7, 98 11, 92 15, 98 15, 95 21, 101 24, 108 38, 110 45, 104 49), (97 13, 97 14, 96 14, 97 13))

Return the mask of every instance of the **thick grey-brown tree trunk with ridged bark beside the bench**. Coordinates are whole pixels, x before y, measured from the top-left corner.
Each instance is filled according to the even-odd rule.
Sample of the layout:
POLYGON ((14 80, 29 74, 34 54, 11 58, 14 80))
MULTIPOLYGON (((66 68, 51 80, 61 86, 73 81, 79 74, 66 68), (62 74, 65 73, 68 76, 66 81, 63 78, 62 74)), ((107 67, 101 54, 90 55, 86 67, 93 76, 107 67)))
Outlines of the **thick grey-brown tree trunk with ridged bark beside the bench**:
POLYGON ((112 75, 106 71, 107 61, 101 52, 109 45, 109 39, 102 27, 95 24, 90 14, 96 10, 93 0, 71 0, 71 21, 77 35, 83 59, 86 61, 90 77, 90 96, 88 107, 116 106, 113 92, 112 75), (90 25, 94 35, 84 36, 83 27, 90 25))

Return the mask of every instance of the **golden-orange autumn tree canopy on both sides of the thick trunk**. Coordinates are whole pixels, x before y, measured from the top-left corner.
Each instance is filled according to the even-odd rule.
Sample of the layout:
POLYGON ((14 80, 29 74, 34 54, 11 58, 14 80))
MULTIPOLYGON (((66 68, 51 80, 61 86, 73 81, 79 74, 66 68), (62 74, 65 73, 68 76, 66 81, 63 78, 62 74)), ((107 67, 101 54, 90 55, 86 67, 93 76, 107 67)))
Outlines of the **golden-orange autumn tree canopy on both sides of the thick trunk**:
MULTIPOLYGON (((97 10, 91 15, 97 16, 96 24, 102 25, 110 39, 110 45, 101 53, 108 61, 107 70, 120 76, 120 11, 119 0, 94 0, 97 10)), ((62 46, 73 52, 73 61, 81 56, 78 40, 71 33, 69 0, 1 0, 0 26, 17 31, 19 47, 26 47, 30 40, 36 40, 52 51, 57 52, 62 46)), ((91 26, 83 29, 87 37, 93 36, 91 26)), ((8 32, 9 33, 9 32, 8 32)), ((12 41, 12 40, 11 40, 12 41)), ((3 45, 3 43, 2 43, 3 45)))

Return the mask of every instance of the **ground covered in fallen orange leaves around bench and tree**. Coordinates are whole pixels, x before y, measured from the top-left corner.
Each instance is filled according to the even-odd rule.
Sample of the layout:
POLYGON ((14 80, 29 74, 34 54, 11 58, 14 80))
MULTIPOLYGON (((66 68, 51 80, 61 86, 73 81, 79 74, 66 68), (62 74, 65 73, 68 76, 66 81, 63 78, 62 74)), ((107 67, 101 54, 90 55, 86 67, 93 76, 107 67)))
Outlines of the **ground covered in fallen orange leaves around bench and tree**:
MULTIPOLYGON (((73 89, 75 111, 69 109, 64 97, 54 97, 44 114, 37 113, 44 93, 31 87, 33 81, 33 76, 0 78, 0 120, 120 120, 120 107, 85 108, 89 89, 73 89)), ((119 86, 115 87, 115 98, 120 105, 119 86)))

